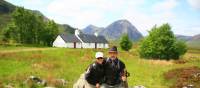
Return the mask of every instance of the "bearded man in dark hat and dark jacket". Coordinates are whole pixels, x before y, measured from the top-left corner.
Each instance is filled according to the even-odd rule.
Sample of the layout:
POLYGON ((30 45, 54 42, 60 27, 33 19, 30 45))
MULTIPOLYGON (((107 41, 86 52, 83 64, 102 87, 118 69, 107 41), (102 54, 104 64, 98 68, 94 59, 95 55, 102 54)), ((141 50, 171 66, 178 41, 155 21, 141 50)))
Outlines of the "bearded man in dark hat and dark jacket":
POLYGON ((117 47, 110 48, 108 54, 109 58, 104 63, 105 82, 101 88, 124 88, 122 83, 126 81, 125 64, 117 57, 117 47))

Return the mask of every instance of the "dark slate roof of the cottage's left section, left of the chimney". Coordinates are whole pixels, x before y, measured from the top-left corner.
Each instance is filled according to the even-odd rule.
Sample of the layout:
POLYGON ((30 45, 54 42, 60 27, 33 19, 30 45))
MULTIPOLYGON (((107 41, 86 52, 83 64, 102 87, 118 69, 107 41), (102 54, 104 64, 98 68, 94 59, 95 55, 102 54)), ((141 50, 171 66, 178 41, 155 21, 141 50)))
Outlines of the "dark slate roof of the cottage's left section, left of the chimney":
POLYGON ((81 42, 75 35, 72 34, 60 34, 60 36, 65 42, 81 42))

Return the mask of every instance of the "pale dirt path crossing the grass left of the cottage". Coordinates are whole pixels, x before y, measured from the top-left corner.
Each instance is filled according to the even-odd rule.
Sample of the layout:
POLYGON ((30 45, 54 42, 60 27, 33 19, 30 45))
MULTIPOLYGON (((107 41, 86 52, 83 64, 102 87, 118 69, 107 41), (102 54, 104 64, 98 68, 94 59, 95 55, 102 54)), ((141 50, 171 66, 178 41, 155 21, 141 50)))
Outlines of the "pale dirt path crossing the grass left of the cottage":
POLYGON ((1 50, 0 53, 17 53, 27 51, 44 51, 44 50, 55 50, 56 48, 28 48, 28 49, 15 49, 15 50, 1 50))

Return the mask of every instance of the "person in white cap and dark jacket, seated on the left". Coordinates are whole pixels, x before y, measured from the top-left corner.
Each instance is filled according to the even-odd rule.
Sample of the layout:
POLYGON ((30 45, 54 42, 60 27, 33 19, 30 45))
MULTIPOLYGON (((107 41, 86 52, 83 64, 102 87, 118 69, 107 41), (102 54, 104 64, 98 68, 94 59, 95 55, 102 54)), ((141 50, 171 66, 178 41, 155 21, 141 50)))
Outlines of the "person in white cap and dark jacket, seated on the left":
POLYGON ((85 74, 85 88, 100 88, 104 78, 103 53, 97 52, 95 57, 96 61, 89 66, 85 74))

